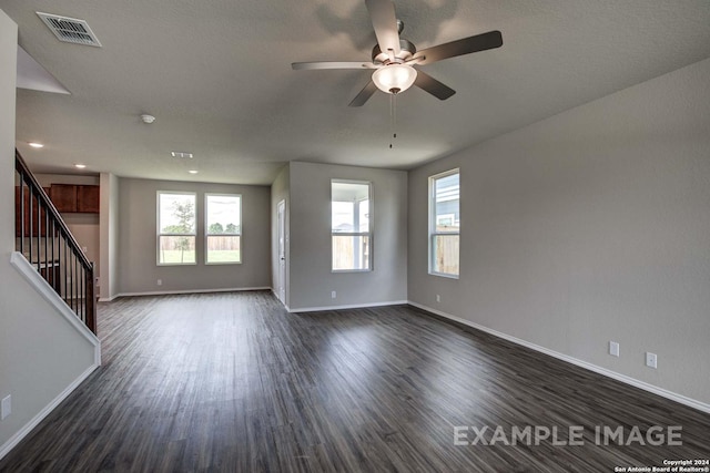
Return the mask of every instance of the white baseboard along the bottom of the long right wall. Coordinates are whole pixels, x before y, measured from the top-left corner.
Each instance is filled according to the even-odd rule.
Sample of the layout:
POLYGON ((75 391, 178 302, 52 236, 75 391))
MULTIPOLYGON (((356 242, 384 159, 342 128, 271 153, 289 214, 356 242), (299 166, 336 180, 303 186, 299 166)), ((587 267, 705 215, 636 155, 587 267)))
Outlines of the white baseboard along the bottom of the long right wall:
POLYGON ((531 342, 523 340, 520 338, 513 337, 513 336, 509 336, 509 335, 504 333, 504 332, 499 332, 497 330, 494 330, 494 329, 490 329, 488 327, 478 325, 476 322, 471 322, 470 320, 466 320, 466 319, 463 319, 460 317, 452 316, 450 313, 446 313, 446 312, 443 312, 440 310, 436 310, 436 309, 433 309, 430 307, 427 307, 427 306, 424 306, 424 305, 420 305, 420 304, 417 304, 417 302, 408 301, 408 304, 410 306, 417 307, 417 308, 419 308, 422 310, 426 310, 427 312, 435 313, 437 316, 444 317, 444 318, 449 319, 449 320, 454 320, 456 322, 459 322, 459 323, 463 323, 465 326, 475 328, 475 329, 484 331, 486 333, 490 333, 490 335, 493 335, 495 337, 498 337, 498 338, 501 338, 504 340, 511 341, 513 343, 520 345, 523 347, 529 348, 529 349, 538 351, 540 353, 545 353, 545 354, 548 354, 550 357, 557 358, 558 360, 562 360, 562 361, 566 361, 568 363, 571 363, 571 364, 578 366, 580 368, 587 369, 589 371, 594 371, 594 372, 596 372, 598 374, 602 374, 602 376, 605 376, 607 378, 611 378, 611 379, 615 379, 617 381, 621 381, 621 382, 623 382, 626 384, 630 384, 630 385, 632 385, 635 388, 642 389, 643 391, 648 391, 648 392, 651 392, 653 394, 658 394, 658 395, 660 395, 662 398, 670 399, 671 401, 676 401, 678 403, 688 405, 688 407, 697 409, 699 411, 710 413, 710 404, 708 404, 706 402, 701 402, 701 401, 698 401, 696 399, 688 398, 688 397, 679 394, 677 392, 668 391, 668 390, 666 390, 663 388, 659 388, 657 385, 649 384, 649 383, 647 383, 645 381, 637 380, 636 378, 631 378, 631 377, 628 377, 626 374, 617 373, 616 371, 611 371, 611 370, 609 370, 607 368, 598 367, 598 366, 589 363, 587 361, 579 360, 577 358, 570 357, 570 356, 565 354, 565 353, 560 353, 559 351, 550 350, 549 348, 545 348, 545 347, 541 347, 539 345, 531 343, 531 342))

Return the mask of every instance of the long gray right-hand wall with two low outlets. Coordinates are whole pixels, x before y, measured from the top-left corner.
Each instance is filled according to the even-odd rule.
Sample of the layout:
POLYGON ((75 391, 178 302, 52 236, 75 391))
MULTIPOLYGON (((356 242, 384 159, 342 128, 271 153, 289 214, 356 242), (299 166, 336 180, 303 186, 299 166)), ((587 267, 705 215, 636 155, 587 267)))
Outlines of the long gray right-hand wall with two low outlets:
POLYGON ((413 171, 409 299, 709 403, 709 76, 706 60, 413 171), (459 280, 426 256, 427 177, 454 167, 459 280))

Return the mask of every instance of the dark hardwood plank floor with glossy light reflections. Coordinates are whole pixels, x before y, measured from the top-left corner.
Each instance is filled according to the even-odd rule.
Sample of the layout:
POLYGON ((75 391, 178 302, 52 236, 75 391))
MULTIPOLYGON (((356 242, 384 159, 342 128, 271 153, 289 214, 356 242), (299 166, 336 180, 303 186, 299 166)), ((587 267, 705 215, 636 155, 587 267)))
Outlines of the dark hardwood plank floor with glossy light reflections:
POLYGON ((709 414, 412 307, 124 298, 100 306, 99 336, 103 367, 0 471, 613 472, 710 459, 709 414), (597 439, 605 426, 622 440, 597 439), (681 445, 648 444, 669 426, 681 445))

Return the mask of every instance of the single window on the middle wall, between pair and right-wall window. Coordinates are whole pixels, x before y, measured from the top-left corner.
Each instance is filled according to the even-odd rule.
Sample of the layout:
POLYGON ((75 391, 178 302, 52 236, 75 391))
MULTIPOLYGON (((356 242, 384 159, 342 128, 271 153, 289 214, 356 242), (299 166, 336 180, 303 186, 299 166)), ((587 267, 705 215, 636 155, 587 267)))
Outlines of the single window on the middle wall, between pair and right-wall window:
POLYGON ((333 271, 372 269, 372 188, 366 182, 331 182, 333 271))

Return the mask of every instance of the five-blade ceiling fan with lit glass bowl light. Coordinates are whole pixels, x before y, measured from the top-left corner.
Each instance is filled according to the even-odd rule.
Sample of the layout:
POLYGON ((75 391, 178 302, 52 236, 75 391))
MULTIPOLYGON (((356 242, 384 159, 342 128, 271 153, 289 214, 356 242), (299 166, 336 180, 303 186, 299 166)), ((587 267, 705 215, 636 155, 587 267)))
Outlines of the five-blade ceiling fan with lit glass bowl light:
POLYGON ((439 100, 446 100, 456 93, 452 88, 437 81, 429 74, 414 69, 447 58, 470 54, 503 45, 500 31, 464 38, 449 43, 417 51, 415 45, 399 37, 404 23, 395 17, 392 0, 365 0, 369 18, 375 29, 377 44, 373 49, 371 62, 294 62, 294 70, 312 69, 373 69, 372 80, 353 99, 348 106, 362 106, 377 91, 398 94, 412 85, 425 90, 439 100))

